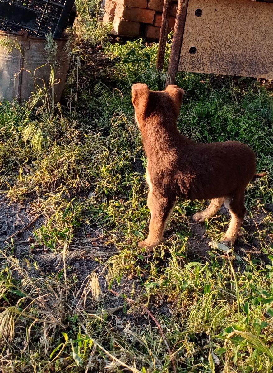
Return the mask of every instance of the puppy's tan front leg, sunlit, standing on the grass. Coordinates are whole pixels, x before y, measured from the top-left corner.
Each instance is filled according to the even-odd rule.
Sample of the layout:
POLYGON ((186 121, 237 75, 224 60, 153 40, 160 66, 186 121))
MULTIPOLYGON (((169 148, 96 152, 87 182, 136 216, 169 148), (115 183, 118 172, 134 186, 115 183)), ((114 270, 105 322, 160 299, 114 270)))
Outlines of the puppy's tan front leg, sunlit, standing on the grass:
POLYGON ((148 252, 163 241, 163 233, 170 217, 176 197, 163 196, 160 192, 150 191, 148 193, 148 208, 151 211, 149 235, 145 241, 139 243, 138 247, 146 247, 148 252))

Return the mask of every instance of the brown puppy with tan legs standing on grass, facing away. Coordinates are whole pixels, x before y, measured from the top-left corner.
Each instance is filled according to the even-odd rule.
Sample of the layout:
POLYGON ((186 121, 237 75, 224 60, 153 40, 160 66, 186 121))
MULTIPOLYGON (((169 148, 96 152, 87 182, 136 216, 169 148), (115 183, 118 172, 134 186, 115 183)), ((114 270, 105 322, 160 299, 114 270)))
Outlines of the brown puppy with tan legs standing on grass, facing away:
POLYGON ((239 141, 199 144, 181 135, 177 117, 184 91, 169 85, 165 91, 150 91, 146 84, 134 84, 132 103, 148 158, 148 208, 151 221, 148 238, 139 243, 152 251, 163 241, 167 220, 176 198, 211 200, 207 209, 193 216, 204 222, 225 203, 231 222, 222 243, 233 244, 242 225, 244 191, 256 174, 253 150, 239 141))

